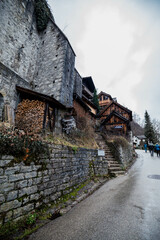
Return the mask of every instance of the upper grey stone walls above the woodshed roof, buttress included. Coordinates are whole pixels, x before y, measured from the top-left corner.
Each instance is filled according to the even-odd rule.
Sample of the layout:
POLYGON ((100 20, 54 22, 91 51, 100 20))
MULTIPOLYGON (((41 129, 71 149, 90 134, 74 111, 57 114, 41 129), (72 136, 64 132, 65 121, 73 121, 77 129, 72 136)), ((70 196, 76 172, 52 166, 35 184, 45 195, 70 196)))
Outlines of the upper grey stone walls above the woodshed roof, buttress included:
MULTIPOLYGON (((73 105, 75 53, 54 21, 37 32, 34 0, 0 1, 0 35, 0 63, 8 71, 27 81, 30 89, 73 105)), ((0 82, 0 89, 8 88, 8 81, 0 82)))

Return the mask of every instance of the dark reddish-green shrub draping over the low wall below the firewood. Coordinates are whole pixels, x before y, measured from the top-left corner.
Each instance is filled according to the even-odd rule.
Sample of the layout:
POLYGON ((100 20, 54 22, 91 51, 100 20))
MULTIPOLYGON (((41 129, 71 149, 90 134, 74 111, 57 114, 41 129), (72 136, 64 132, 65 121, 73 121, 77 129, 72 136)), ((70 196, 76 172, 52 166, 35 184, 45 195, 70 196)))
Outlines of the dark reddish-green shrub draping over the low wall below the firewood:
POLYGON ((28 136, 24 131, 0 127, 0 155, 12 155, 14 157, 37 159, 40 154, 49 154, 48 145, 40 136, 28 136))

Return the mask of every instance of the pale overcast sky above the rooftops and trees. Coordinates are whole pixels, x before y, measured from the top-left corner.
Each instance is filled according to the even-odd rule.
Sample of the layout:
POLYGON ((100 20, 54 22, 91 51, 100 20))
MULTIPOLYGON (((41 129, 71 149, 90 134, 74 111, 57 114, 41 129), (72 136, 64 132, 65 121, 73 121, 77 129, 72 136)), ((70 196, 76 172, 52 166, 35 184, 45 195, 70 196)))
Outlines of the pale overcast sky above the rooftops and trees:
POLYGON ((160 120, 160 0, 48 0, 98 92, 160 120))

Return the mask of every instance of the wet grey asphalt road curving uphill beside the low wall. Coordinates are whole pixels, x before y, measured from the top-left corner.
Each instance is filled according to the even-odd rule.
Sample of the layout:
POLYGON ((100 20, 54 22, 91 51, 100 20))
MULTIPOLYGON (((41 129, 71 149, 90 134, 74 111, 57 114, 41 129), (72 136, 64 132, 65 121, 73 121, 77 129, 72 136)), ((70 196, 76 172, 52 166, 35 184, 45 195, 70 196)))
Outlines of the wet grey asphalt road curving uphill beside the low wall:
POLYGON ((160 157, 142 150, 128 174, 110 180, 30 240, 160 240, 160 157), (149 176, 149 177, 148 177, 149 176))

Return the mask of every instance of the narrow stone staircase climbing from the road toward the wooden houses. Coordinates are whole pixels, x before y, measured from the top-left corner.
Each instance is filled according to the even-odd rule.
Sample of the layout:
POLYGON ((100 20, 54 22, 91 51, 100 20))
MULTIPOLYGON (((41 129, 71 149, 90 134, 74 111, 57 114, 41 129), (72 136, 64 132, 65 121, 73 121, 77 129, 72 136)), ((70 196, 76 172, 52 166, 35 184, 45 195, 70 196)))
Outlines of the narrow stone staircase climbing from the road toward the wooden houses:
POLYGON ((113 157, 109 147, 105 143, 105 140, 100 134, 97 134, 96 136, 96 142, 100 149, 103 149, 105 151, 105 157, 108 162, 108 171, 109 174, 114 176, 119 176, 125 174, 125 171, 122 170, 122 165, 119 164, 113 157))

